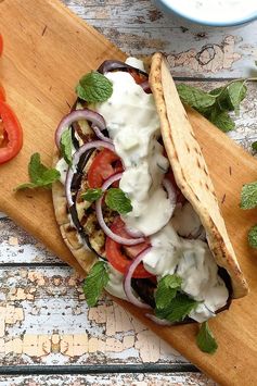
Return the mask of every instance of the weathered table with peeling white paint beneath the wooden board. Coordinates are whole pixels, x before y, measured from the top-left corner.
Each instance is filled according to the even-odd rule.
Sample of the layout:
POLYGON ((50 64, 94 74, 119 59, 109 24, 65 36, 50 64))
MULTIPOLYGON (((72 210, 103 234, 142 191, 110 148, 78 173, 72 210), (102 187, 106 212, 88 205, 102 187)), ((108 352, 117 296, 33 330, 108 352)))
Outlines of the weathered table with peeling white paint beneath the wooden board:
MULTIPOLYGON (((211 89, 257 73, 257 22, 208 28, 147 0, 63 2, 129 54, 166 52, 177 80, 211 89)), ((257 139, 256 111, 253 84, 230 134, 247 149, 257 139)), ((89 310, 77 274, 4 215, 0 374, 0 386, 215 385, 110 299, 89 310)))

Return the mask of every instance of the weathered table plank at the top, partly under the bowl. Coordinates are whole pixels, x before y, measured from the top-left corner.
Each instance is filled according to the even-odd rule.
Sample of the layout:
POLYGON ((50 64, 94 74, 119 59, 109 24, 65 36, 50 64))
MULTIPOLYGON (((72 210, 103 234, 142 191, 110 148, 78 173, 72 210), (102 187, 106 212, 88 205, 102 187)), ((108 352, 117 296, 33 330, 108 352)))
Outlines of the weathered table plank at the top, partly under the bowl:
POLYGON ((62 1, 125 52, 166 52, 177 76, 241 77, 255 69, 257 21, 214 28, 165 13, 149 0, 62 1))

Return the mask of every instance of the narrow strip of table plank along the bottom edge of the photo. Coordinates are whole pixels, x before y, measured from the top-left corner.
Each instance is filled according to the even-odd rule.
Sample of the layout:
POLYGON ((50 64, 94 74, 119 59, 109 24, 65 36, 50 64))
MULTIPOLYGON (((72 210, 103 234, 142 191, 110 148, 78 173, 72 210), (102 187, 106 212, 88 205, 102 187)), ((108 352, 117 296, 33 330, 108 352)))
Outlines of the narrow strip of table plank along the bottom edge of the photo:
POLYGON ((203 374, 106 374, 106 375, 30 375, 0 378, 0 386, 215 386, 203 374))

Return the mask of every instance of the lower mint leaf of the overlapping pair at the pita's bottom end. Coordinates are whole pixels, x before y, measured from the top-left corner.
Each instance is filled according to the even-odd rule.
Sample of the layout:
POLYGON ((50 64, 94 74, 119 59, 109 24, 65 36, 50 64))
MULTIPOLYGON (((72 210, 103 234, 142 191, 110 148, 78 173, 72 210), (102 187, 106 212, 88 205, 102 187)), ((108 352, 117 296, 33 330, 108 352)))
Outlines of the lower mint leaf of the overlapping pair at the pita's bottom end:
POLYGON ((165 309, 155 309, 155 314, 159 319, 167 321, 182 322, 189 313, 198 306, 196 300, 191 299, 185 294, 177 294, 177 296, 169 301, 169 306, 165 309))

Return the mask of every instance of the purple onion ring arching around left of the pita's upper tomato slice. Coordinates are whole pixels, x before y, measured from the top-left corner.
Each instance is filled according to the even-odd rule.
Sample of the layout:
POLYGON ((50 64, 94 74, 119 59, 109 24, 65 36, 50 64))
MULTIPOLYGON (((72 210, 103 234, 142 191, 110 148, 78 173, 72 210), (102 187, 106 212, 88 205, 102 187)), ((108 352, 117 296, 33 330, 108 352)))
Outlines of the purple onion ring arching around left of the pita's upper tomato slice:
POLYGON ((73 165, 68 167, 67 175, 66 175, 66 180, 65 180, 65 192, 66 192, 66 199, 68 202, 68 208, 73 206, 73 196, 72 196, 72 182, 73 182, 73 176, 76 171, 76 167, 78 165, 80 157, 88 150, 90 149, 97 149, 97 148, 105 148, 111 151, 114 151, 114 146, 111 144, 107 144, 103 140, 93 140, 91 142, 85 144, 81 146, 73 155, 73 165))

